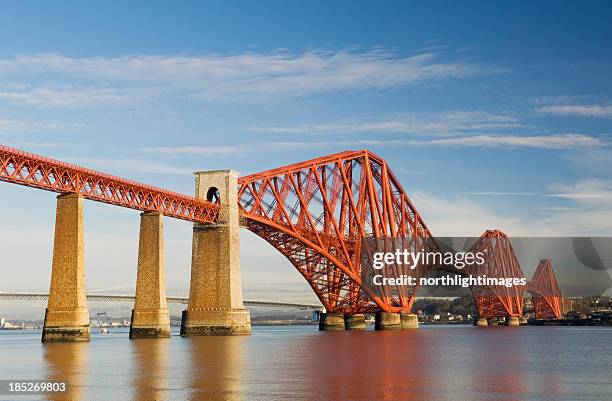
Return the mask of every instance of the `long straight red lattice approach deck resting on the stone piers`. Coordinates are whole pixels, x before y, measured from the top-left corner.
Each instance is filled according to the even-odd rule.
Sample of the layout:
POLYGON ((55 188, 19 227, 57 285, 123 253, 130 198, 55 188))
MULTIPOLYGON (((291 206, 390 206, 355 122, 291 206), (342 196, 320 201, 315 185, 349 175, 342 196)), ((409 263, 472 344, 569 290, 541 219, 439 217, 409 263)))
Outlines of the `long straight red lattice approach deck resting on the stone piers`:
POLYGON ((78 193, 87 199, 165 216, 213 223, 219 205, 124 178, 0 146, 0 181, 58 193, 78 193))

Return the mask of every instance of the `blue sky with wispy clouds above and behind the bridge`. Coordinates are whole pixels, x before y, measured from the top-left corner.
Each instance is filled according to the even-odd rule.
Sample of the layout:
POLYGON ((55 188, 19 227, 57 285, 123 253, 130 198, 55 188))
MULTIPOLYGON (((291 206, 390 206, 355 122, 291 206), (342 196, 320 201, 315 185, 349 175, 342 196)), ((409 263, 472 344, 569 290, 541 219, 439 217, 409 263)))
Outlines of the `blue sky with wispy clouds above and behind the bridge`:
MULTIPOLYGON (((185 193, 369 148, 434 234, 612 234, 609 3, 227 3, 3 2, 0 143, 185 193)), ((46 290, 54 195, 0 196, 0 289, 46 290)), ((89 288, 131 291, 138 214, 86 211, 89 288)), ((190 226, 166 226, 186 293, 190 226)), ((313 299, 242 238, 247 296, 313 299)))

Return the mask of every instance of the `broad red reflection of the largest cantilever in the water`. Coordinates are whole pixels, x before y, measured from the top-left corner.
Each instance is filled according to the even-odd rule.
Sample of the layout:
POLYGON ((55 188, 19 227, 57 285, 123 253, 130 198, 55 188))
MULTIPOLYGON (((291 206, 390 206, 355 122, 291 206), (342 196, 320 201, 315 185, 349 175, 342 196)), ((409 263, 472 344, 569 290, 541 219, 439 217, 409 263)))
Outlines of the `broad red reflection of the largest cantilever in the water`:
MULTIPOLYGON (((318 400, 432 400, 429 339, 417 330, 324 333, 306 339, 301 352, 316 352, 302 365, 318 400), (329 334, 329 335, 327 335, 329 334), (310 343, 310 344, 309 344, 310 343)), ((288 389, 287 389, 288 390, 288 389)))

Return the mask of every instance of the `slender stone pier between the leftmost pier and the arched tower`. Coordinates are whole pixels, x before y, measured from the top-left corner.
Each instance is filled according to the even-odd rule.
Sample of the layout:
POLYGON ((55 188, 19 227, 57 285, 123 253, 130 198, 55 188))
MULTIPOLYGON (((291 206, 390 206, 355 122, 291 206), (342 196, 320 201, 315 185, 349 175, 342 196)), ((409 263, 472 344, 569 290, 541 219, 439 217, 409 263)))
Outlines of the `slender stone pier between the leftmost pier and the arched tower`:
POLYGON ((136 297, 130 338, 170 337, 164 275, 164 225, 159 212, 140 215, 136 297))

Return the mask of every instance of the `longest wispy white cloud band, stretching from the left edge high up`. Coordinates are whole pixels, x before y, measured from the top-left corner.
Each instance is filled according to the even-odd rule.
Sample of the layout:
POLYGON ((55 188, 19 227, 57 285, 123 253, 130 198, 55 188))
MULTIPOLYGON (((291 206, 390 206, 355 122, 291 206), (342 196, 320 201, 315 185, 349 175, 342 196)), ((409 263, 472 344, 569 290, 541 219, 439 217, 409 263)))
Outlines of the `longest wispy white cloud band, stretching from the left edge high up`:
POLYGON ((10 88, 23 86, 24 79, 41 86, 5 90, 0 97, 39 107, 107 103, 140 96, 143 90, 204 100, 249 100, 377 90, 498 71, 442 62, 434 53, 406 57, 381 50, 89 58, 28 54, 0 59, 2 80, 10 88))

